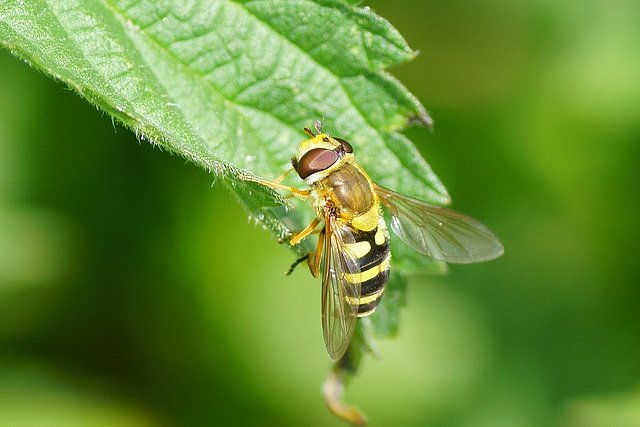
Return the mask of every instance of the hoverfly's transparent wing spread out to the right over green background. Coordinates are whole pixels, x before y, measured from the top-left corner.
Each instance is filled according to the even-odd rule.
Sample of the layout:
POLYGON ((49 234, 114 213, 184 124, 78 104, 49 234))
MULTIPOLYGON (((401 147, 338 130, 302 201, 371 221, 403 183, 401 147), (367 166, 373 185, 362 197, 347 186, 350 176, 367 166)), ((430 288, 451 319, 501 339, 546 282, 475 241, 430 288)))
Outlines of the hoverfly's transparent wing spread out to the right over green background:
POLYGON ((500 240, 480 221, 377 184, 374 189, 393 215, 393 232, 420 253, 440 261, 467 264, 489 261, 504 252, 500 240))

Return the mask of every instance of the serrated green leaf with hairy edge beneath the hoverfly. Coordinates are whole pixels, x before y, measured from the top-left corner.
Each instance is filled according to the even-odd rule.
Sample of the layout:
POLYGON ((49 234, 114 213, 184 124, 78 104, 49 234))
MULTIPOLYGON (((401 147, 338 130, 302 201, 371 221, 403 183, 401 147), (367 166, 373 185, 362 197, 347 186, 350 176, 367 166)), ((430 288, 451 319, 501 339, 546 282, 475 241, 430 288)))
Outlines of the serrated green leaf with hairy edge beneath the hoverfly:
MULTIPOLYGON (((282 195, 239 176, 280 175, 306 138, 302 128, 316 119, 324 119, 325 132, 351 142, 376 182, 449 202, 398 133, 412 123, 431 126, 420 102, 384 71, 415 53, 386 20, 353 3, 3 1, 0 43, 140 139, 215 174, 250 215, 284 237, 306 225, 311 210, 287 209, 282 195)), ((394 274, 442 269, 410 255, 398 239, 392 245, 394 274)), ((302 254, 310 246, 294 249, 302 254)), ((397 280, 374 319, 375 331, 397 329, 404 279, 397 280)))

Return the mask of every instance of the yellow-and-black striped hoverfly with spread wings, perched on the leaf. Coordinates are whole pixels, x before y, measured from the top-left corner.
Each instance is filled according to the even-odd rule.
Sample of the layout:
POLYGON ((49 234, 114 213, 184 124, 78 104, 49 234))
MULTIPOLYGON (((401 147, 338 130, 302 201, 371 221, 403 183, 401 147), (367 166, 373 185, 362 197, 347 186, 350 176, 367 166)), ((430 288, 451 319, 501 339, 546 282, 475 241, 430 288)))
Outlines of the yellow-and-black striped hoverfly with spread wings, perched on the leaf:
POLYGON ((482 262, 499 257, 504 249, 479 221, 374 183, 356 163, 351 144, 322 133, 319 121, 314 127, 317 134, 304 129, 311 138, 300 144, 291 169, 274 181, 243 179, 289 191, 314 207, 316 218, 294 233, 290 244, 319 229, 315 252, 299 259, 289 272, 307 261, 314 277, 322 273, 324 342, 329 357, 336 361, 347 350, 358 317, 375 311, 389 279, 389 233, 381 204, 391 212, 395 234, 436 260, 482 262), (292 171, 310 188, 280 184, 292 171))

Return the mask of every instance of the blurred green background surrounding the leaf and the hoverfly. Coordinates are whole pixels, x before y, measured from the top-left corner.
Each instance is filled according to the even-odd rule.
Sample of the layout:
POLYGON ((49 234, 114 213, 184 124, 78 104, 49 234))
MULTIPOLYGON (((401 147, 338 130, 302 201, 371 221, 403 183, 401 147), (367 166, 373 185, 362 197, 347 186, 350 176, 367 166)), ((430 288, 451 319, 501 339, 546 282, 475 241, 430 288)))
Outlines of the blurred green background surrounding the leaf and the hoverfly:
MULTIPOLYGON (((346 400, 640 425, 640 3, 366 4, 421 52, 392 73, 435 132, 406 133, 506 253, 413 278, 346 400)), ((211 176, 6 51, 0 100, 0 425, 342 425, 319 281, 211 176)))

